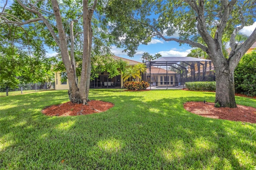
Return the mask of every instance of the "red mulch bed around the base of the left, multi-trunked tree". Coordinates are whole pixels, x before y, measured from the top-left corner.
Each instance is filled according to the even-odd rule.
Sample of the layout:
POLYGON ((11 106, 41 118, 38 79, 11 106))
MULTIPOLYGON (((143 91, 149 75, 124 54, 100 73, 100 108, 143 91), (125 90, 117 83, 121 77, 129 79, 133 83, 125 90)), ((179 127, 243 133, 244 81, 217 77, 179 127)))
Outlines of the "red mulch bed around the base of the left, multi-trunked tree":
POLYGON ((47 116, 78 116, 89 115, 92 113, 104 112, 113 107, 113 103, 92 100, 88 102, 88 105, 82 105, 77 103, 63 103, 60 105, 53 105, 46 107, 42 110, 42 113, 47 116))

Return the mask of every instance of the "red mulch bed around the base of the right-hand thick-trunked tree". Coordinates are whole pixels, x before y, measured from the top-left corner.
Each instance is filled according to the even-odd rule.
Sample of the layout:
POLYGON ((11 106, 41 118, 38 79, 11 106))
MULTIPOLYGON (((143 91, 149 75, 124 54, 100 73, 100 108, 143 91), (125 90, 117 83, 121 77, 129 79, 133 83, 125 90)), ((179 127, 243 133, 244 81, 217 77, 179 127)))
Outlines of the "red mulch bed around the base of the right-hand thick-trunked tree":
POLYGON ((256 123, 256 108, 237 105, 236 108, 214 107, 214 103, 187 102, 184 109, 196 115, 230 121, 256 123))

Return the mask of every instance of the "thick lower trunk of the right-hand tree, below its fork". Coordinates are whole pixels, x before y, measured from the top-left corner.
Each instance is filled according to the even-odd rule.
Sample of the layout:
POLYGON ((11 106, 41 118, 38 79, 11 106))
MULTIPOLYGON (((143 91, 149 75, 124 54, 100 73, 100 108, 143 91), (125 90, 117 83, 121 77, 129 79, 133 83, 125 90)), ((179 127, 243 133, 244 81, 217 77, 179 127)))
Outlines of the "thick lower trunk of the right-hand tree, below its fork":
MULTIPOLYGON (((226 67, 227 68, 227 67, 226 67)), ((236 107, 234 70, 217 67, 215 107, 236 107)))

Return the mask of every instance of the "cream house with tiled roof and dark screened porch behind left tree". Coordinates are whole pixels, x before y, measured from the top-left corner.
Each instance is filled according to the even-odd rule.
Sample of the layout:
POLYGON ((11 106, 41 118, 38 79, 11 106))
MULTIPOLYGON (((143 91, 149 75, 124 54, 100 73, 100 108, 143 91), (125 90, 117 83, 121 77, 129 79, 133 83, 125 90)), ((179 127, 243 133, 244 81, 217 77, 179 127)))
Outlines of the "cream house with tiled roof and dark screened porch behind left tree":
MULTIPOLYGON (((134 66, 140 62, 134 61, 131 59, 126 59, 118 56, 113 56, 115 60, 122 59, 123 61, 126 61, 128 65, 134 66)), ((120 71, 120 70, 119 70, 120 71)), ((122 78, 122 72, 120 71, 120 75, 109 78, 108 72, 104 71, 102 73, 99 73, 99 77, 96 77, 91 80, 90 82, 90 88, 124 88, 124 81, 122 78)), ((55 89, 56 90, 68 90, 68 81, 61 81, 61 78, 65 75, 61 75, 60 71, 55 73, 55 89)), ((134 81, 139 81, 139 78, 136 77, 134 81)), ((78 77, 78 84, 80 83, 80 77, 78 77)))

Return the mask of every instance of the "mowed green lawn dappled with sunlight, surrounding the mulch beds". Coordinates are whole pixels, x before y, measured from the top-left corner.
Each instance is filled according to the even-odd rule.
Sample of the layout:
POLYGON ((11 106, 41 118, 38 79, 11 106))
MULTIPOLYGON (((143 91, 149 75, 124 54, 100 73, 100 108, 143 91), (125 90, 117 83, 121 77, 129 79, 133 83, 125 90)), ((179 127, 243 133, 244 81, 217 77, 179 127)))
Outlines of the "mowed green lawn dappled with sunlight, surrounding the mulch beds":
MULTIPOLYGON (((214 102, 215 93, 92 89, 89 98, 115 106, 92 115, 47 117, 41 110, 69 101, 67 91, 1 97, 0 168, 256 168, 256 124, 183 109, 187 101, 214 102)), ((255 99, 236 102, 256 107, 255 99)))

